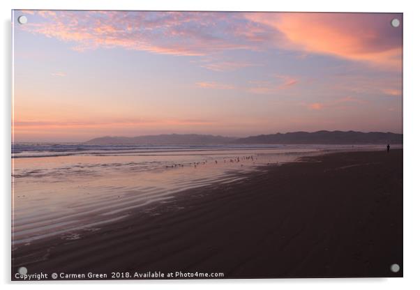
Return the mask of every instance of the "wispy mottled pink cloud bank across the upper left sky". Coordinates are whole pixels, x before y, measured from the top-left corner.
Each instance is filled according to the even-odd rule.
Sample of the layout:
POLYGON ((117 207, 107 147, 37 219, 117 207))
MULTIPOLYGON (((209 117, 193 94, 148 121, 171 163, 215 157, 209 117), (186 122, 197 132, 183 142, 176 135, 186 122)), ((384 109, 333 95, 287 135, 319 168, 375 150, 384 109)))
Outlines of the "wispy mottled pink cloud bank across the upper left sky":
MULTIPOLYGON (((229 49, 257 49, 257 40, 250 40, 252 29, 241 33, 243 29, 235 24, 241 18, 239 13, 226 17, 225 13, 192 12, 50 12, 37 11, 45 21, 29 23, 22 29, 73 43, 73 49, 80 52, 122 47, 157 54, 203 56, 229 49)), ((253 23, 247 26, 250 28, 253 23)))

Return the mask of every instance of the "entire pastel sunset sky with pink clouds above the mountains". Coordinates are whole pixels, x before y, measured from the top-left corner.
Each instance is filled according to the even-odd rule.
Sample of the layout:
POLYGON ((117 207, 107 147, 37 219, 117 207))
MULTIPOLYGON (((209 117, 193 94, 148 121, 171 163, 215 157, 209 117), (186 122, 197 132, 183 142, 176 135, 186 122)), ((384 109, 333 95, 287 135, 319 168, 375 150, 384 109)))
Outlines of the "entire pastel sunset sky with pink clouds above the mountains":
POLYGON ((402 24, 396 13, 15 10, 13 139, 402 133, 402 24))

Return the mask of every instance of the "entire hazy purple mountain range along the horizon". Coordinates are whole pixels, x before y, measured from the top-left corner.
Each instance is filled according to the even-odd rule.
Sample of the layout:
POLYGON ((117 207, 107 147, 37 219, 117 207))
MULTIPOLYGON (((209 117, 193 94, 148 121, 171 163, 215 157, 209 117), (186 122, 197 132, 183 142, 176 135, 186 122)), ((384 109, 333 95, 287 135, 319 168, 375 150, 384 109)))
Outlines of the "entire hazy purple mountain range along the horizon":
POLYGON ((403 144, 403 134, 391 132, 317 131, 257 135, 245 138, 198 134, 147 135, 138 137, 99 137, 94 145, 203 145, 203 144, 403 144))

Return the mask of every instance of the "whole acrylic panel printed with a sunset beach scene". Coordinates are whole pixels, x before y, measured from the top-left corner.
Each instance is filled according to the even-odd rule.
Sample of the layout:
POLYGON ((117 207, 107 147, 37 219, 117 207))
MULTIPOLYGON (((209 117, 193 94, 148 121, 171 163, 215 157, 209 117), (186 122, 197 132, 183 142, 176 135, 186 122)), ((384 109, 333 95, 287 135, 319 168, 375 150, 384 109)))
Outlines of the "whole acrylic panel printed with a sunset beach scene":
POLYGON ((403 276, 402 13, 12 29, 12 280, 403 276))

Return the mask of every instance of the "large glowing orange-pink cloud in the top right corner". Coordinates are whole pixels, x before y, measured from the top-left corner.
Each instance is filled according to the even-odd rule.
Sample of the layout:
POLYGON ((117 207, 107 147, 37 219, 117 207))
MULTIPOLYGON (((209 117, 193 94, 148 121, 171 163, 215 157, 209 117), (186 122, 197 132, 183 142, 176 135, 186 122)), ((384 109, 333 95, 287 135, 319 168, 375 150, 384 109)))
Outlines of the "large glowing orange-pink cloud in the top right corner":
POLYGON ((391 68, 401 66, 402 27, 384 13, 247 13, 246 18, 271 26, 287 41, 280 47, 332 54, 391 68))

